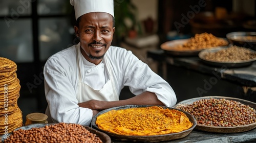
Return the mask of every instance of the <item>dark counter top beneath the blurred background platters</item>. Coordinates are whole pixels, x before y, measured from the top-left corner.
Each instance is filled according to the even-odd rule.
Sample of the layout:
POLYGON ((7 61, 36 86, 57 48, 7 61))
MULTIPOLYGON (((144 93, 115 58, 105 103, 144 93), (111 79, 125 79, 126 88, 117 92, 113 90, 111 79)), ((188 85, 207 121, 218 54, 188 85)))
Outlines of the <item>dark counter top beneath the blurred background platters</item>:
POLYGON ((210 74, 229 81, 240 83, 247 87, 256 87, 256 61, 250 66, 239 68, 217 67, 203 63, 199 57, 175 57, 169 56, 163 50, 148 51, 148 58, 160 62, 167 62, 176 66, 183 66, 188 69, 199 71, 200 73, 210 74))

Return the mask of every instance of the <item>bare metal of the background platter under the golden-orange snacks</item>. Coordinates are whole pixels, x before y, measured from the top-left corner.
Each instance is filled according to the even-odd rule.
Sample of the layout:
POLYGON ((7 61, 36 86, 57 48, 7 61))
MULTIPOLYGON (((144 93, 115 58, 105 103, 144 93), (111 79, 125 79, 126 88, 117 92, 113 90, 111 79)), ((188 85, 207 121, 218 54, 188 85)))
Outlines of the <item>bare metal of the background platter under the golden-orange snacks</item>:
MULTIPOLYGON (((204 49, 197 49, 197 50, 184 50, 179 51, 175 50, 176 46, 182 45, 186 43, 189 39, 178 39, 164 42, 160 45, 161 49, 169 55, 173 56, 198 56, 198 54, 204 49)), ((207 47, 205 49, 214 49, 215 47, 207 47)))

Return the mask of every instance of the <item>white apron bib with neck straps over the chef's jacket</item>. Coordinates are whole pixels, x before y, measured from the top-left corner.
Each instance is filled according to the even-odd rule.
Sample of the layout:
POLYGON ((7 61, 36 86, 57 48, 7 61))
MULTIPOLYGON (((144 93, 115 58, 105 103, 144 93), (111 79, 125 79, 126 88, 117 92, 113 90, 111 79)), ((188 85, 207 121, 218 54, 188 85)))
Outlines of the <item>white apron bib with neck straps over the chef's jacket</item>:
POLYGON ((76 99, 78 103, 86 102, 89 100, 100 100, 100 101, 118 101, 119 96, 115 89, 114 78, 112 74, 112 68, 110 67, 111 64, 108 63, 108 57, 103 57, 103 62, 106 66, 107 73, 109 74, 109 80, 104 84, 102 89, 94 90, 89 85, 83 83, 82 73, 84 72, 83 69, 83 62, 82 62, 82 54, 80 47, 77 46, 77 66, 79 68, 78 71, 78 84, 76 89, 76 99))

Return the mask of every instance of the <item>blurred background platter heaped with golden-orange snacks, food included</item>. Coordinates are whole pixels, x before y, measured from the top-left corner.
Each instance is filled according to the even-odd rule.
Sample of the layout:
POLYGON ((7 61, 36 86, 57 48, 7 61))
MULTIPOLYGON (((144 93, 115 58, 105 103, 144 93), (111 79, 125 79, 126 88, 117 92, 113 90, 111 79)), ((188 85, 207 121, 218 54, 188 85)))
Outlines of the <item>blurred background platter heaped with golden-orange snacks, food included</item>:
POLYGON ((219 38, 210 33, 201 33, 189 39, 164 42, 161 44, 161 49, 172 56, 198 56, 199 52, 204 49, 214 49, 228 44, 225 38, 219 38))

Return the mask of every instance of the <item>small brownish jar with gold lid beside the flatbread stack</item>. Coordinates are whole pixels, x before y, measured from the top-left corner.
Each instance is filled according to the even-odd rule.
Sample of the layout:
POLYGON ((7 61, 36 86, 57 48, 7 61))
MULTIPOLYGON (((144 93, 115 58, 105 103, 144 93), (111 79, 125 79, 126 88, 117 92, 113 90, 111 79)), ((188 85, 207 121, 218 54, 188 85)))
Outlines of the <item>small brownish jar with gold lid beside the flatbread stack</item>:
POLYGON ((30 113, 26 116, 25 126, 38 123, 48 123, 48 116, 44 113, 30 113))

